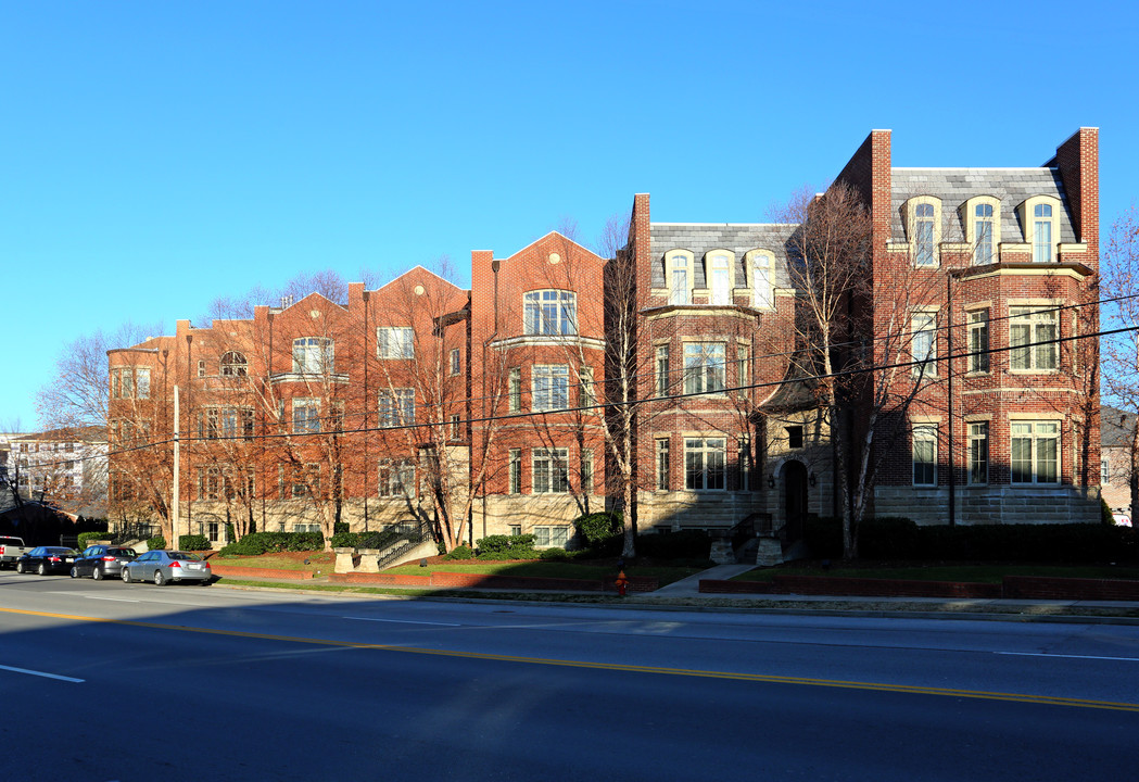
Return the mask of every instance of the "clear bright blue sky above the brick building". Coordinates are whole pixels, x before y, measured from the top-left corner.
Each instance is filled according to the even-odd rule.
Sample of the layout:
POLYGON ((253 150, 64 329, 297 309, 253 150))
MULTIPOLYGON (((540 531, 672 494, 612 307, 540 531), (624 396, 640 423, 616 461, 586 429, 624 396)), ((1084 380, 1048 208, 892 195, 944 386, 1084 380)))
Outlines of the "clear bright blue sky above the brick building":
POLYGON ((2 3, 0 429, 82 334, 328 268, 466 285, 472 250, 588 242, 633 193, 762 221, 875 128, 894 165, 1019 166, 1098 127, 1106 235, 1136 41, 1095 1, 2 3))

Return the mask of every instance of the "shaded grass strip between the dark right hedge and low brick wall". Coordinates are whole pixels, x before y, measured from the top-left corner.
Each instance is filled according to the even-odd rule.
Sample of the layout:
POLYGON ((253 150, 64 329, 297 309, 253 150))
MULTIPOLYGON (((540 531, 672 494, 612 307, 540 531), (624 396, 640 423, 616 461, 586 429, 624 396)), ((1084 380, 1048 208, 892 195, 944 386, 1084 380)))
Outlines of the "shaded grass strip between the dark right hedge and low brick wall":
POLYGON ((1116 565, 1060 564, 882 564, 872 567, 831 567, 788 564, 759 568, 736 576, 734 581, 770 581, 775 576, 823 576, 834 578, 892 578, 911 581, 964 581, 1000 584, 1005 576, 1044 576, 1051 578, 1123 578, 1139 580, 1139 568, 1116 565))

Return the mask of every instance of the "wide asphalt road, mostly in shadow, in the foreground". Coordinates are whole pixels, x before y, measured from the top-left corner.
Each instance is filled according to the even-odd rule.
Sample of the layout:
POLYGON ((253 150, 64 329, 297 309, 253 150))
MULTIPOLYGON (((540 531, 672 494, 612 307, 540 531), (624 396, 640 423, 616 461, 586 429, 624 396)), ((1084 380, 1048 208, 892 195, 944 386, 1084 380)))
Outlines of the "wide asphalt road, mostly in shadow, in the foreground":
POLYGON ((10 780, 1124 780, 1139 628, 0 572, 10 780))

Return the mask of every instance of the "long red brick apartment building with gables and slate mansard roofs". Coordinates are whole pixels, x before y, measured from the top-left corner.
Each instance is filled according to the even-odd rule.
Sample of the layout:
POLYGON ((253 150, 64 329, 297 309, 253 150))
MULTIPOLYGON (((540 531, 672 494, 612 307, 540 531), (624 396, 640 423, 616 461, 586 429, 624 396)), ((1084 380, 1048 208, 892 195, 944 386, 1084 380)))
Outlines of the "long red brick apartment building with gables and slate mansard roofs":
MULTIPOLYGON (((1097 154, 1081 129, 1039 168, 894 168, 874 131, 839 172, 870 217, 839 352, 888 381, 844 424, 872 440, 869 514, 1098 519, 1097 154)), ((622 496, 625 377, 640 530, 794 541, 808 514, 841 511, 798 230, 654 223, 642 194, 617 260, 551 233, 474 252, 470 291, 417 267, 344 302, 181 320, 109 353, 116 512, 169 515, 177 385, 182 532, 442 520, 449 545, 566 545, 573 519, 622 496)))

